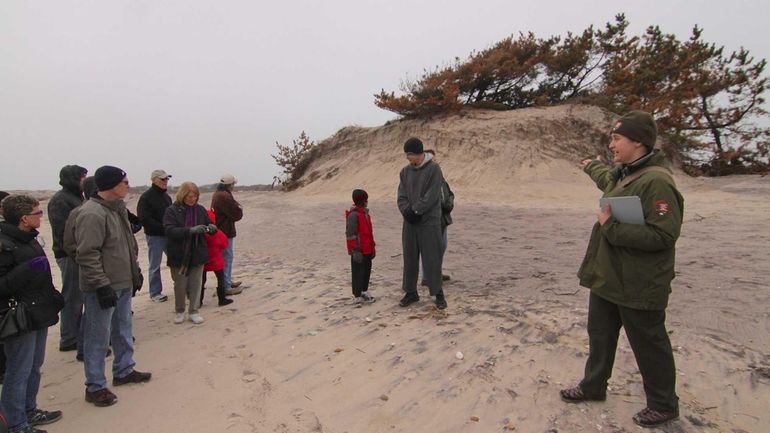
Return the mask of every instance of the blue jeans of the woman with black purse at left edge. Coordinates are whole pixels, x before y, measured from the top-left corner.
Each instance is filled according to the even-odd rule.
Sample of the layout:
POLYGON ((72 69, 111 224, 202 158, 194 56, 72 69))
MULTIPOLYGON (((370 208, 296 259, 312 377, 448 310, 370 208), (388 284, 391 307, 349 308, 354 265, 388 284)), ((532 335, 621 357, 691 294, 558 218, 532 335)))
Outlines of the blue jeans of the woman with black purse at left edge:
POLYGON ((27 412, 37 408, 47 337, 48 328, 44 328, 10 337, 4 342, 7 364, 0 407, 10 428, 27 425, 27 412))

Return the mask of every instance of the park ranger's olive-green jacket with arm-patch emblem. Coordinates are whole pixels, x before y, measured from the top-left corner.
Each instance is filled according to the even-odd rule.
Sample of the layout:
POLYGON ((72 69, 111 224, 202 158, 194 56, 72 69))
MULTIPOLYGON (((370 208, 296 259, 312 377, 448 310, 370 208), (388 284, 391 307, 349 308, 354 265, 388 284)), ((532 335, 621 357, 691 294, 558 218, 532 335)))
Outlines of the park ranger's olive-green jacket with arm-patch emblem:
POLYGON ((604 225, 597 222, 578 277, 581 286, 615 304, 663 310, 674 278, 674 246, 682 227, 684 199, 673 178, 656 171, 615 189, 621 173, 631 174, 648 166, 668 168, 663 152, 658 150, 640 162, 613 168, 591 161, 585 166, 603 197, 639 196, 645 224, 620 223, 614 217, 604 225))

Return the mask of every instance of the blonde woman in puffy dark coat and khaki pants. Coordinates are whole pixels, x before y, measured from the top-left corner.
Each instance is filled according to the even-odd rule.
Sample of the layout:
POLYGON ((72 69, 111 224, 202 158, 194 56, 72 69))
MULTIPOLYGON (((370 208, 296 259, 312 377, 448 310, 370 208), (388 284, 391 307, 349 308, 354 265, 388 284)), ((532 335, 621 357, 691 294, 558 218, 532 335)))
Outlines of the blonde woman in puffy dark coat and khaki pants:
POLYGON ((174 204, 166 209, 163 227, 168 244, 166 257, 174 280, 174 323, 184 322, 185 299, 189 300, 189 319, 196 325, 203 323, 198 313, 201 299, 203 265, 209 259, 204 234, 215 233, 215 226, 206 208, 198 204, 200 191, 192 182, 183 182, 176 193, 174 204))

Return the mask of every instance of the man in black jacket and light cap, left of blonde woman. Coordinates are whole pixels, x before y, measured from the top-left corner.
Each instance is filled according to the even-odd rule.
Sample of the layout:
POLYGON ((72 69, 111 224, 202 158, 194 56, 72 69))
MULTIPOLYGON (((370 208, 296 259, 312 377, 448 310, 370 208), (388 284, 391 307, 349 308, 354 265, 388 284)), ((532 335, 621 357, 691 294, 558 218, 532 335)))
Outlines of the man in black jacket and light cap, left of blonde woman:
POLYGON ((144 227, 147 239, 147 258, 150 263, 150 299, 155 302, 165 302, 168 296, 163 292, 163 281, 160 277, 160 264, 163 253, 166 252, 166 230, 163 228, 163 215, 166 208, 171 206, 168 190, 168 180, 171 175, 164 170, 154 170, 150 174, 152 185, 139 197, 136 213, 144 227))

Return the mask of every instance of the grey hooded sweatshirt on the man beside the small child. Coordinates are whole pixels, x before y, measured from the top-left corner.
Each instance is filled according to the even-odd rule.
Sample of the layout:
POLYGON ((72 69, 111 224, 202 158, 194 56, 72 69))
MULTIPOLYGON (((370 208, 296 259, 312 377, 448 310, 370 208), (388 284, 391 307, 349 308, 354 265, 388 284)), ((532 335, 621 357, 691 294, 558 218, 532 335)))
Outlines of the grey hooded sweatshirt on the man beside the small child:
POLYGON ((411 208, 422 219, 417 225, 441 224, 441 186, 444 175, 430 153, 419 166, 408 164, 401 169, 398 184, 398 210, 411 208))

